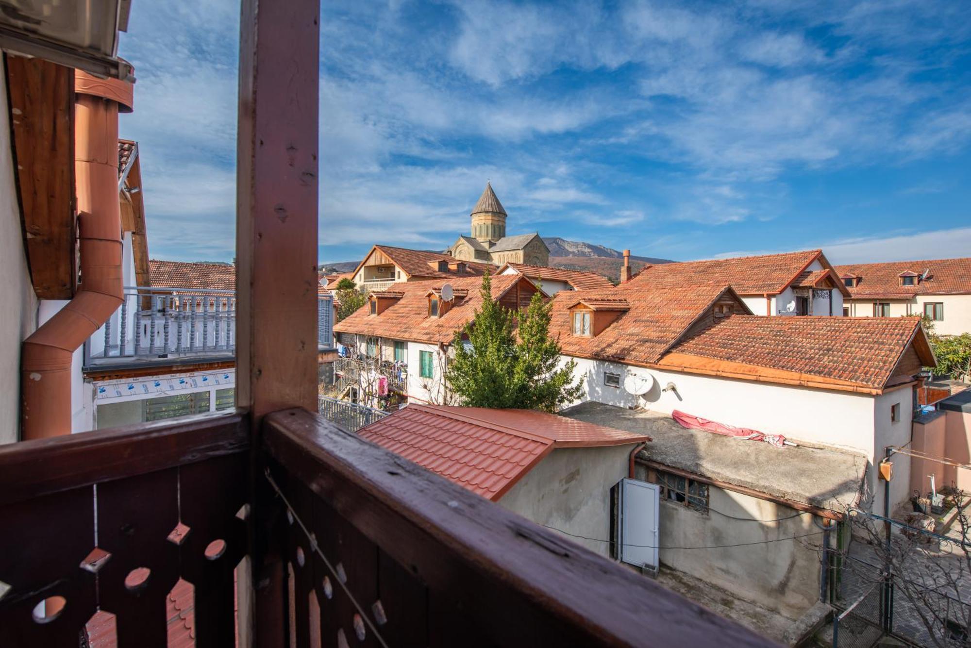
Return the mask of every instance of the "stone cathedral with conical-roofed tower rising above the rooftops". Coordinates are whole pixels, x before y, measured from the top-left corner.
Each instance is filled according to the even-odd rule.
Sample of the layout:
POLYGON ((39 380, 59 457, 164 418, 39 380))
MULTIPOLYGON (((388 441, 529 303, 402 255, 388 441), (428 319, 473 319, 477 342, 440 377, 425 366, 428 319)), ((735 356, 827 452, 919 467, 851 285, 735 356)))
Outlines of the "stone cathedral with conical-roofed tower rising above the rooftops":
POLYGON ((446 252, 464 261, 525 263, 530 266, 550 265, 550 248, 539 234, 506 236, 506 210, 485 183, 485 191, 472 209, 472 236, 460 236, 446 252))

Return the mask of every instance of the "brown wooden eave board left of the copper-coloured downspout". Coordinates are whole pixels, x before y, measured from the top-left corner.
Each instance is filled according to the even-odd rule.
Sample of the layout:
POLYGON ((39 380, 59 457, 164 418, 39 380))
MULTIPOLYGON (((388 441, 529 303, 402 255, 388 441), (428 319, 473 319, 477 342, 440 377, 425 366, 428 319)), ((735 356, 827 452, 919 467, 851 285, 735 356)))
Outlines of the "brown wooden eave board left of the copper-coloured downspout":
POLYGON ((7 54, 6 61, 14 168, 31 282, 40 299, 71 299, 77 280, 74 70, 13 54, 7 54))

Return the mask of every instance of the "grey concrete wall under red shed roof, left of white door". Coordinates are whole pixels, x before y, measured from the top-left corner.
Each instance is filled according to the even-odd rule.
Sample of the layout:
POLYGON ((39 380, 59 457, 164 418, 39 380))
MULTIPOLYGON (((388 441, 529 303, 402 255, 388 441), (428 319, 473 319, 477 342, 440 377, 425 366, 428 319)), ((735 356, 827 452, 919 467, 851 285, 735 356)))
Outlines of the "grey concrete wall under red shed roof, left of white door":
POLYGON ((627 476, 633 448, 625 444, 553 450, 499 504, 537 524, 572 534, 567 539, 609 556, 610 489, 627 476))

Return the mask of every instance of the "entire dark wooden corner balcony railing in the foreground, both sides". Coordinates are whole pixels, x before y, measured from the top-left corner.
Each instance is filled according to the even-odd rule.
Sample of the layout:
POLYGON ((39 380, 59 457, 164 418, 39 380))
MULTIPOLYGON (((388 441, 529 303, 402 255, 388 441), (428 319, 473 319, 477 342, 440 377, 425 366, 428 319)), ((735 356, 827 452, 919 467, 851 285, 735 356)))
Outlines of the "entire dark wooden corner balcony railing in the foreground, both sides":
POLYGON ((250 434, 203 415, 0 448, 0 645, 85 645, 100 610, 117 646, 164 646, 180 578, 199 648, 769 645, 317 414, 250 434))

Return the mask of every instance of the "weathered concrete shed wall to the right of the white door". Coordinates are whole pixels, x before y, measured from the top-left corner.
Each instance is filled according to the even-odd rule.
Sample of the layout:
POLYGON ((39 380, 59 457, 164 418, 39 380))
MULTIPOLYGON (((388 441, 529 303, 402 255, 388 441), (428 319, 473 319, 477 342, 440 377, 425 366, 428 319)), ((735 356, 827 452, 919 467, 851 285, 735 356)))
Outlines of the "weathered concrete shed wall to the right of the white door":
POLYGON ((714 486, 708 492, 707 514, 681 502, 660 502, 658 537, 662 565, 718 585, 791 619, 801 616, 820 597, 820 557, 813 544, 819 542, 820 536, 765 541, 820 531, 813 524, 813 516, 798 515, 799 511, 787 506, 714 486), (737 520, 716 511, 735 518, 766 521, 737 520), (779 518, 789 519, 774 521, 779 518), (765 543, 723 549, 663 548, 745 542, 765 543))

